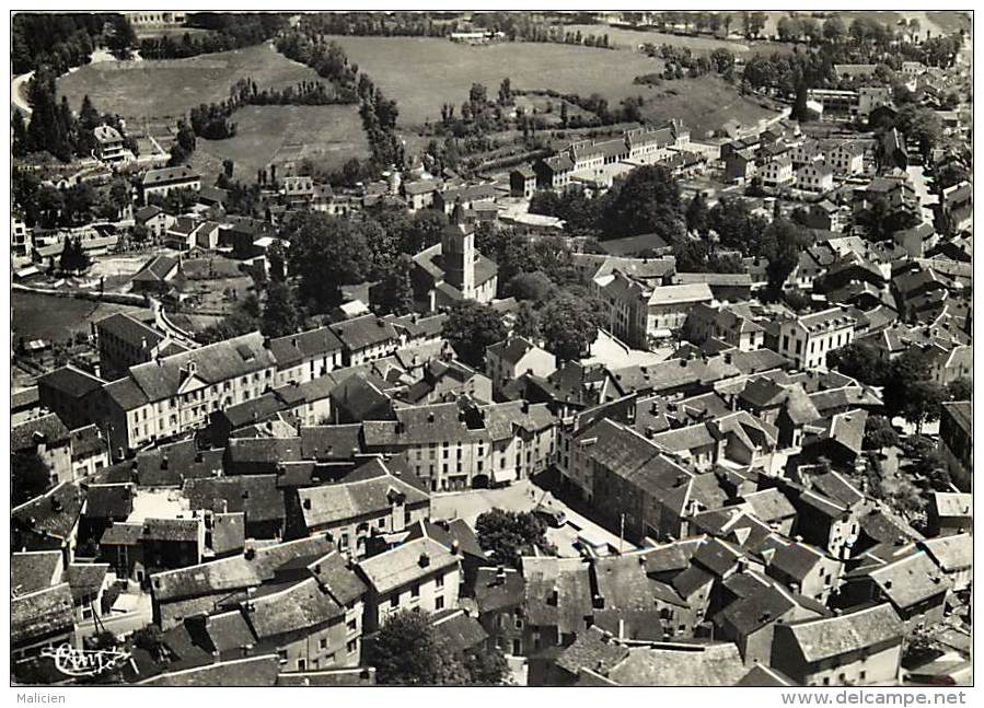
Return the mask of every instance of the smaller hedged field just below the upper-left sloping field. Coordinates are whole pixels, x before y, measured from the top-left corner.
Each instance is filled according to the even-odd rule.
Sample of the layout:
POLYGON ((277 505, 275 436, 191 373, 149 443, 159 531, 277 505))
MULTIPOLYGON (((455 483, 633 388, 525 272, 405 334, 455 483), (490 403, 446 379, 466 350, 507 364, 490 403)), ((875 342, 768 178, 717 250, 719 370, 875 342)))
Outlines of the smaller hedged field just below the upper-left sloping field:
POLYGON ((236 135, 225 140, 198 140, 195 165, 219 172, 222 160, 235 162, 235 174, 247 179, 271 163, 311 160, 325 170, 369 154, 356 106, 246 106, 235 112, 236 135))

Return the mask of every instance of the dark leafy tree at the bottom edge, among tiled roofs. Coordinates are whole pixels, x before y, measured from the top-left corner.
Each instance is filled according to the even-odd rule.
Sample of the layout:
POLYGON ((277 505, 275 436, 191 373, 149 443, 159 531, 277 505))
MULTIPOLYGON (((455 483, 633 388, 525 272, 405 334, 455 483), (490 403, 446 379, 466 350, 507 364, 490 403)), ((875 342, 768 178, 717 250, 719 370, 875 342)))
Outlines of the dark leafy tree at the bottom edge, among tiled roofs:
POLYGON ((367 663, 383 686, 439 686, 463 683, 463 668, 438 642, 430 615, 402 611, 390 615, 372 642, 367 663))

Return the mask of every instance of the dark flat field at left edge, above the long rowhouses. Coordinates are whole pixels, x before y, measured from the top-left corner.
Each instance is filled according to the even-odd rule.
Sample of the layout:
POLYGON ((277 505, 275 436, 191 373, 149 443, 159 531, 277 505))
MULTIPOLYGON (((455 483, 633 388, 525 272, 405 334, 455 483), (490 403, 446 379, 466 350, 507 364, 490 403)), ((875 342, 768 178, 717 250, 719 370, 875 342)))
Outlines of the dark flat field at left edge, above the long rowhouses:
POLYGON ((10 293, 13 305, 13 332, 27 339, 62 341, 77 332, 89 332, 89 323, 116 312, 138 316, 149 311, 132 305, 95 302, 77 298, 58 298, 34 292, 10 293))

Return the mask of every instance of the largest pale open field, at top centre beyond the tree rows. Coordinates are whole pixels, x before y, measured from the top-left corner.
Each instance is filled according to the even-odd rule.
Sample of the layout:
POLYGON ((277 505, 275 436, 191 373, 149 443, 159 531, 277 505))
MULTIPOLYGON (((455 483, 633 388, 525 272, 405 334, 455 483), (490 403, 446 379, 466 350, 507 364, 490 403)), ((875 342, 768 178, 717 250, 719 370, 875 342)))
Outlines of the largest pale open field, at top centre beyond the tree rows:
POLYGON ((473 83, 495 97, 509 78, 513 89, 600 93, 617 105, 636 95, 632 81, 662 63, 638 53, 559 44, 502 43, 470 47, 430 37, 332 37, 400 105, 400 124, 439 120, 441 104, 461 105, 473 83))

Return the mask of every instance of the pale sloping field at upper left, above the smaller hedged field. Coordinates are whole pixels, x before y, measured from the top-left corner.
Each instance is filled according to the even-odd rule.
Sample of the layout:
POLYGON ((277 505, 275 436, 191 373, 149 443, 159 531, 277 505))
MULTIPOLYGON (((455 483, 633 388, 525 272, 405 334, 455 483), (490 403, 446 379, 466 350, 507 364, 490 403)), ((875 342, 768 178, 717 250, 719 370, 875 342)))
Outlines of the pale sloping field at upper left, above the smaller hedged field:
POLYGON ((74 109, 89 94, 103 113, 176 117, 201 103, 223 101, 229 88, 244 77, 253 77, 259 86, 283 86, 317 74, 259 45, 189 59, 93 63, 58 79, 58 91, 74 109))

